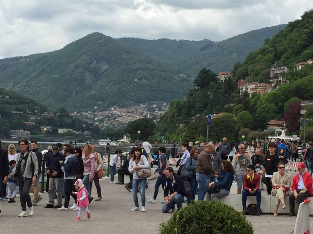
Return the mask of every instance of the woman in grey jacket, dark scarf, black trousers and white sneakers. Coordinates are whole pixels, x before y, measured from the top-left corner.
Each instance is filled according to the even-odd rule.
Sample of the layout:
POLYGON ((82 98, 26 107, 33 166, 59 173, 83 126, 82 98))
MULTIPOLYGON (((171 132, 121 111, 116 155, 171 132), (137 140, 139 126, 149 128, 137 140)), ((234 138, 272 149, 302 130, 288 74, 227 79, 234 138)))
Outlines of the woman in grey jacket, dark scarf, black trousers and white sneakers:
POLYGON ((32 216, 34 214, 32 199, 28 192, 32 183, 36 182, 38 176, 38 161, 36 154, 29 150, 28 140, 20 140, 18 144, 22 152, 18 154, 17 163, 12 173, 9 175, 9 178, 18 180, 22 207, 22 213, 20 213, 18 217, 26 217, 26 203, 29 207, 29 215, 32 216))

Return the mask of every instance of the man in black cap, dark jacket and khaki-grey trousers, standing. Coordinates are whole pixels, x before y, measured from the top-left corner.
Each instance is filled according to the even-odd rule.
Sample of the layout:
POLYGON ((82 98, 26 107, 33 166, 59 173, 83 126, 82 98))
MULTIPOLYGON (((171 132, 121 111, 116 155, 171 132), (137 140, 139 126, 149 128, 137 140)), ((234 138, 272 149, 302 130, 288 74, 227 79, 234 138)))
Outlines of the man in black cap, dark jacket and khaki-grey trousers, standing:
POLYGON ((49 181, 49 203, 44 208, 61 208, 62 207, 62 178, 64 173, 59 161, 65 161, 64 155, 59 152, 57 144, 52 145, 53 156, 50 158, 47 173, 50 175, 49 181), (58 204, 54 206, 54 191, 57 193, 58 204))

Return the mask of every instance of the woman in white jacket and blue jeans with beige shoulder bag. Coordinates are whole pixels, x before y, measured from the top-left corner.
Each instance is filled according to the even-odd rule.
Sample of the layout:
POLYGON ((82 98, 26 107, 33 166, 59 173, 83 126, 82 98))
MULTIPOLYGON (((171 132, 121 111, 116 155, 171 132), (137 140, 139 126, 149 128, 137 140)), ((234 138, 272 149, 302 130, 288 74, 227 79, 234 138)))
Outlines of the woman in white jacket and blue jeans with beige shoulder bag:
POLYGON ((134 150, 134 155, 131 158, 128 166, 129 173, 133 174, 133 199, 135 203, 135 207, 131 209, 131 211, 139 211, 139 203, 138 203, 138 197, 137 197, 137 189, 140 184, 140 195, 141 195, 141 211, 146 211, 146 183, 147 178, 138 178, 138 171, 143 168, 149 168, 149 163, 147 158, 144 155, 141 155, 141 149, 136 148, 134 150))

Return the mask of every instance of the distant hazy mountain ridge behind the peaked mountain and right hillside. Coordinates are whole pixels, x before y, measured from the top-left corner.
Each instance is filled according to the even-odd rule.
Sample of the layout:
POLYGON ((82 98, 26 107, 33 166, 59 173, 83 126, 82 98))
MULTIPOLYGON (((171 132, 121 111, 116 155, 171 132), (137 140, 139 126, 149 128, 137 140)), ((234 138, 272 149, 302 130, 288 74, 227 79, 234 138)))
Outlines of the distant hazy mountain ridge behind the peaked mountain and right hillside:
MULTIPOLYGON (((272 38, 283 30, 286 24, 253 30, 224 41, 189 40, 144 40, 138 38, 120 38, 120 43, 130 46, 152 59, 165 62, 177 73, 197 75, 203 68, 215 73, 231 71, 233 65, 243 61, 254 50, 264 45, 264 39, 272 38)), ((266 39, 267 40, 267 39, 266 39)))

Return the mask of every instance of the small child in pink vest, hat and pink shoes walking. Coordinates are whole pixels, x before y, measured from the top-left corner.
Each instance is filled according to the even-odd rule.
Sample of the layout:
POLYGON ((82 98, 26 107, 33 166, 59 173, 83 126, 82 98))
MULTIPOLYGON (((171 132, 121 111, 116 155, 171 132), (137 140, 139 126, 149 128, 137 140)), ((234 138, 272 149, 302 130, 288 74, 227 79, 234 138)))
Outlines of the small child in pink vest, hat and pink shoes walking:
POLYGON ((80 215, 83 208, 87 213, 87 218, 90 219, 90 211, 88 210, 89 199, 87 189, 84 187, 83 181, 81 179, 76 180, 74 185, 77 192, 72 192, 72 194, 77 194, 77 206, 79 207, 78 216, 75 221, 80 221, 80 215))

